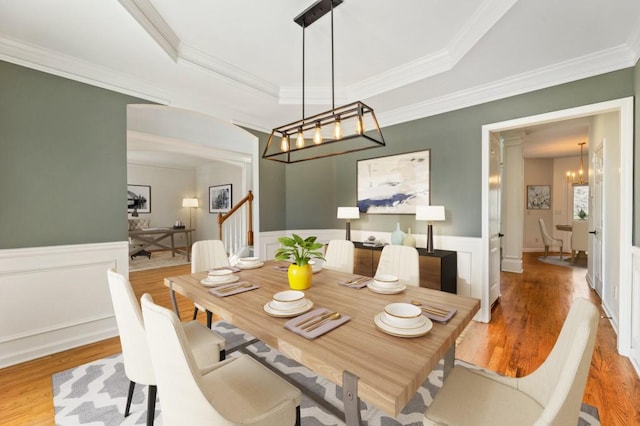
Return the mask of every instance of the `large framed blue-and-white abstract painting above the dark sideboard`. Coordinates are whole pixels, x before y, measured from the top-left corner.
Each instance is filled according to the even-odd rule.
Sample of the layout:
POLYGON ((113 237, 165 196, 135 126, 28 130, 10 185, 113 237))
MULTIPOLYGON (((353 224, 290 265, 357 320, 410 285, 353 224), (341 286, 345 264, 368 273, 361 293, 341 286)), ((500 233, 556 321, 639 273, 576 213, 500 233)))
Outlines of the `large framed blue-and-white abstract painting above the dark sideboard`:
POLYGON ((360 213, 415 214, 431 201, 431 150, 358 160, 360 213))

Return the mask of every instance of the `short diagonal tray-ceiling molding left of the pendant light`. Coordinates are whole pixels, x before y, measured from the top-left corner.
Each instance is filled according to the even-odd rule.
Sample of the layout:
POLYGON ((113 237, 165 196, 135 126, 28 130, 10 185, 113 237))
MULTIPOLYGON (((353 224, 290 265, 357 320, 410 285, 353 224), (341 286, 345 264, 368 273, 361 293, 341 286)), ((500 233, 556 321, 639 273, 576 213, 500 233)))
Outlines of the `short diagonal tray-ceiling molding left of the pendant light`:
POLYGON ((118 0, 173 61, 178 60, 180 39, 149 0, 118 0))

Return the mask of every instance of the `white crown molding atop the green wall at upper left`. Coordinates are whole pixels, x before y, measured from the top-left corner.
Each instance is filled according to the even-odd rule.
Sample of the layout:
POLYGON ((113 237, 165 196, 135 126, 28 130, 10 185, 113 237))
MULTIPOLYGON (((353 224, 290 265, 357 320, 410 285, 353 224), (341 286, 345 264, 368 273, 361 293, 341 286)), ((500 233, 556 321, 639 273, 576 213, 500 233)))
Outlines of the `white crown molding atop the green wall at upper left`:
POLYGON ((39 46, 0 37, 0 59, 159 104, 170 103, 169 94, 160 87, 39 46))

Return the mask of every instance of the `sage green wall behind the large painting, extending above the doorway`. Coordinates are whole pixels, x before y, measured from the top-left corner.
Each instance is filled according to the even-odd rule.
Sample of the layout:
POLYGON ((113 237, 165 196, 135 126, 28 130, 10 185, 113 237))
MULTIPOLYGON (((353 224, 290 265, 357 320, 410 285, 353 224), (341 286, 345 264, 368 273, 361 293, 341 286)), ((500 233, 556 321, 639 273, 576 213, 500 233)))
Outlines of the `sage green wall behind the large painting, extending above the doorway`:
MULTIPOLYGON (((337 206, 356 205, 356 162, 423 149, 431 150, 431 203, 446 207, 447 221, 438 224, 439 232, 452 236, 481 236, 481 128, 484 124, 556 111, 585 104, 634 95, 634 74, 621 71, 574 81, 523 95, 439 114, 383 129, 387 146, 360 153, 305 163, 286 168, 285 182, 263 176, 261 190, 275 191, 271 185, 286 187, 285 225, 279 229, 342 228, 336 219, 337 206)), ((372 105, 375 109, 375 105, 372 105)), ((281 175, 279 175, 281 176, 281 175)), ((637 190, 637 189, 636 189, 637 190)), ((280 215, 279 209, 265 209, 261 218, 280 215)), ((361 215, 352 221, 352 229, 392 231, 400 222, 406 230, 415 230, 413 215, 361 215)), ((275 224, 275 220, 268 223, 275 224)), ((261 224, 261 230, 272 230, 261 224)), ((424 233, 425 225, 418 225, 424 233)))

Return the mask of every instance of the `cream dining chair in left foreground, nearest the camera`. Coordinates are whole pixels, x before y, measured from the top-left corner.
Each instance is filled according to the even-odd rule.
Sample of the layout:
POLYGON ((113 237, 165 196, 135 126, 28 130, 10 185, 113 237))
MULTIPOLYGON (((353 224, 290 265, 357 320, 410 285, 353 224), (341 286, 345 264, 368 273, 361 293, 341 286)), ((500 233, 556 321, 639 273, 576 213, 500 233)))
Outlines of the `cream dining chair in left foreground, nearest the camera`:
POLYGON ((153 303, 149 294, 141 303, 164 424, 300 424, 296 387, 249 355, 198 371, 176 314, 153 303))

